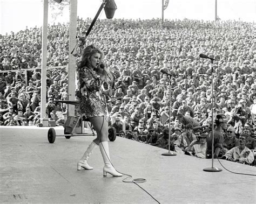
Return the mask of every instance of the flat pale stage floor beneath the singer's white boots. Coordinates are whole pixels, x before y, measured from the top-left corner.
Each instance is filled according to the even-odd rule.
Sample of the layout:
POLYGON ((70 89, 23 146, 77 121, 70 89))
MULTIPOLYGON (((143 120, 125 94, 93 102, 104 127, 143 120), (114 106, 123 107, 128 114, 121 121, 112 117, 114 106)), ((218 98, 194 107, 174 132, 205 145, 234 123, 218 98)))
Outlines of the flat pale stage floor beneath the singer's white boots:
MULTIPOLYGON (((89 160, 93 170, 77 171, 93 136, 48 142, 49 128, 0 127, 0 202, 41 203, 157 203, 123 177, 103 177, 103 159, 97 147, 89 160)), ((62 127, 55 128, 63 133, 62 127)), ((205 172, 211 159, 183 154, 168 157, 164 149, 117 137, 109 142, 112 163, 131 174, 160 203, 256 203, 256 177, 226 171, 205 172)), ((252 166, 220 160, 234 172, 256 174, 252 166)))

